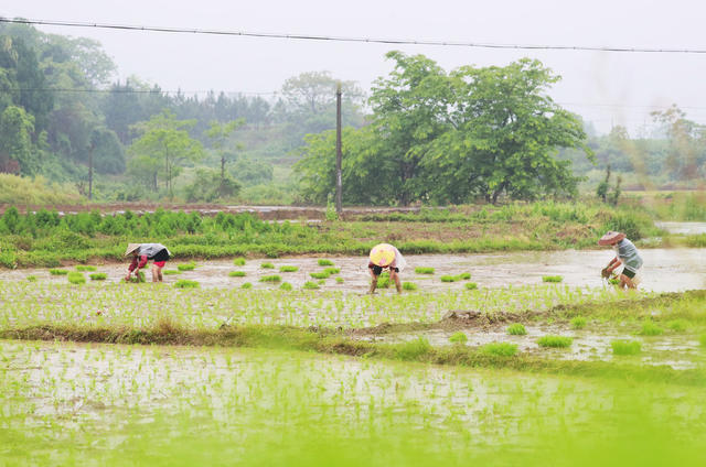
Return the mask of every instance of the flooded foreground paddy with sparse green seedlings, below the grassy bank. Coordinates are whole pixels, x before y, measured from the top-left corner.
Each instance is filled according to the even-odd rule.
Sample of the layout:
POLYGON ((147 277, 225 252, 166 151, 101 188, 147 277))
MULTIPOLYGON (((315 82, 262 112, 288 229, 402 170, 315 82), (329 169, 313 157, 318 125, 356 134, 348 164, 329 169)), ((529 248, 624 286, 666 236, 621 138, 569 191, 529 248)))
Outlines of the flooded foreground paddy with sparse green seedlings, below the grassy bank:
POLYGON ((8 340, 0 376, 7 465, 698 465, 706 442, 703 388, 666 382, 8 340))

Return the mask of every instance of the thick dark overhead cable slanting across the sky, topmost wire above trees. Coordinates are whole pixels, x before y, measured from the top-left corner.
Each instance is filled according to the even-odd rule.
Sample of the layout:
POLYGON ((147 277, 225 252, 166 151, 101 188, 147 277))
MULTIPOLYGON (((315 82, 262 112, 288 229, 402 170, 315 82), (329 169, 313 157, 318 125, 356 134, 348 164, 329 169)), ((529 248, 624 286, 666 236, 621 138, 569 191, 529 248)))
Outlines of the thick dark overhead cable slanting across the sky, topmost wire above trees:
POLYGON ((288 34, 288 33, 267 33, 267 32, 247 32, 247 31, 225 31, 208 29, 185 29, 185 28, 165 28, 165 26, 138 26, 128 24, 109 24, 109 23, 87 23, 79 21, 51 21, 51 20, 28 20, 28 19, 6 19, 0 18, 2 23, 50 25, 50 26, 69 26, 69 28, 97 28, 121 31, 149 31, 179 34, 205 34, 205 35, 229 35, 243 37, 259 39, 286 39, 300 41, 330 41, 330 42, 355 42, 371 44, 388 44, 388 45, 432 45, 432 46, 452 46, 452 47, 473 47, 473 48, 509 48, 509 50, 543 50, 543 51, 584 51, 584 52, 627 52, 627 53, 660 53, 660 54, 706 54, 704 48, 653 48, 653 47, 628 47, 628 46, 589 46, 589 45, 532 45, 532 44, 495 44, 483 42, 457 42, 457 41, 430 41, 430 40, 405 40, 405 39, 379 39, 379 37, 355 37, 355 36, 328 36, 318 34, 288 34))

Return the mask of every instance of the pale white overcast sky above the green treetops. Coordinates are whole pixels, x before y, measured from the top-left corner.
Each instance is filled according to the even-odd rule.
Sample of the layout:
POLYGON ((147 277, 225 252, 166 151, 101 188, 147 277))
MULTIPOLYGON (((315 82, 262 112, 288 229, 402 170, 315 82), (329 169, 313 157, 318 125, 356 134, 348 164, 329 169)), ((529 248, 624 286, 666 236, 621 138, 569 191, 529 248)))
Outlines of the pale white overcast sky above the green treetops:
MULTIPOLYGON (((706 50, 706 3, 696 0, 416 1, 357 0, 6 0, 0 15, 142 26, 410 39, 498 44, 706 50)), ((201 34, 39 26, 100 41, 121 79, 137 75, 164 90, 276 91, 288 77, 329 70, 368 89, 393 48, 421 53, 447 70, 541 59, 563 76, 550 91, 601 131, 639 134, 653 106, 682 107, 706 123, 706 54, 504 51, 391 46, 201 34)))

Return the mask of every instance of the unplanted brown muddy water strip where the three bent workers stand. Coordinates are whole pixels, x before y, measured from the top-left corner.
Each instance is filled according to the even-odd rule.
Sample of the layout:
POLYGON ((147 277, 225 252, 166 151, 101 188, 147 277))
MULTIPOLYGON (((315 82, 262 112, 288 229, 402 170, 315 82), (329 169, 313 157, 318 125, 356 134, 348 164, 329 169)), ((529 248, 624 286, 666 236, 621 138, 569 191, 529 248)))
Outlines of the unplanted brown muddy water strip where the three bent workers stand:
MULTIPOLYGON (((403 252, 404 253, 404 252, 403 252)), ((706 287, 706 249, 642 249, 644 259, 641 289, 654 292, 676 292, 706 287)), ((325 257, 320 257, 325 258, 325 257)), ((329 291, 366 291, 370 274, 366 261, 361 257, 329 257, 341 273, 325 280, 322 290, 329 291), (334 278, 343 279, 338 283, 334 278)), ((499 287, 507 284, 531 285, 542 283, 544 275, 561 275, 563 284, 570 286, 602 286, 600 270, 613 258, 611 250, 590 251, 541 251, 492 254, 418 254, 407 256, 407 269, 402 272, 403 281, 414 282, 421 291, 436 292, 462 290, 464 282, 446 283, 441 275, 456 275, 470 272, 470 282, 479 287, 499 287), (434 275, 416 274, 416 267, 432 267, 434 275)), ((167 263, 167 270, 175 270, 179 261, 167 263)), ((98 265, 98 271, 108 274, 108 282, 121 280, 127 264, 98 265)), ((193 271, 184 271, 179 275, 165 275, 167 282, 190 279, 207 287, 239 287, 250 282, 255 289, 270 287, 259 282, 263 275, 279 274, 282 281, 300 287, 306 281, 314 281, 311 272, 320 272, 317 258, 279 258, 275 260, 248 260, 244 267, 235 267, 231 260, 201 261, 193 271), (272 263, 275 269, 263 269, 263 263, 272 263), (279 272, 281 265, 296 265, 297 272, 279 272), (229 271, 244 271, 245 278, 229 278, 229 271)), ((66 276, 53 276, 47 269, 2 271, 0 280, 25 280, 35 275, 40 281, 65 283, 66 276)), ((147 271, 149 280, 149 271, 147 271)), ((86 273, 88 276, 88 273, 86 273)))

